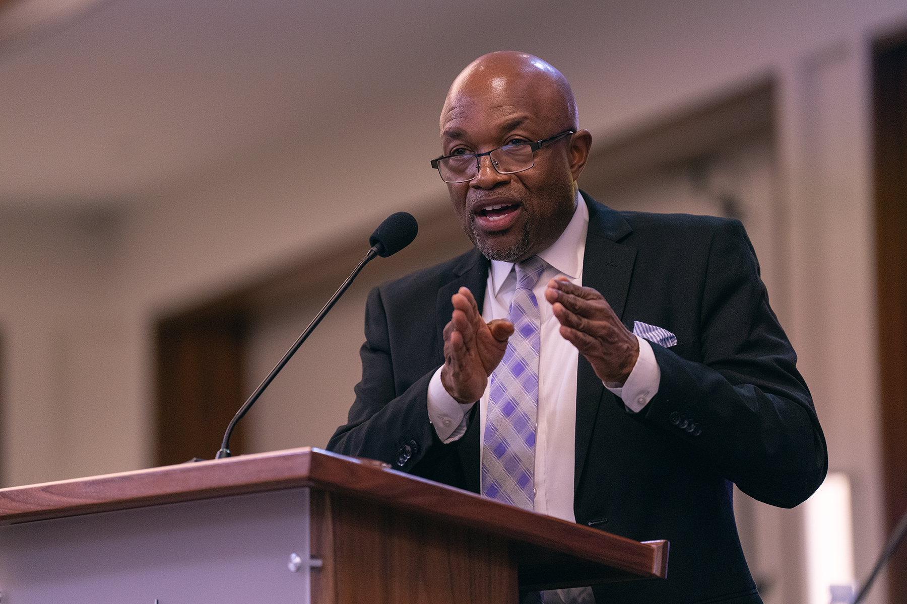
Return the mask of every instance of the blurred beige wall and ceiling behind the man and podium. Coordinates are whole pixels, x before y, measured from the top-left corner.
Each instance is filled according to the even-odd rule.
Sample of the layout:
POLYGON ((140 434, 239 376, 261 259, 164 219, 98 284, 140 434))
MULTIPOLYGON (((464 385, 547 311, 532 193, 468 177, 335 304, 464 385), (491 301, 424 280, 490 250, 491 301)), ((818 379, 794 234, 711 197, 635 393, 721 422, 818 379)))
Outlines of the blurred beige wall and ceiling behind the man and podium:
MULTIPOLYGON (((580 187, 743 220, 849 477, 863 578, 887 530, 873 44, 905 30, 894 0, 0 1, 0 480, 213 456, 166 456, 190 419, 161 411, 185 410, 161 376, 196 383, 180 359, 231 350, 211 388, 235 404, 194 411, 217 435, 410 211, 413 248, 366 268, 239 436, 324 446, 368 288, 469 246, 428 166, 438 113, 463 66, 514 49, 571 81, 595 152, 580 187)), ((802 511, 736 502, 766 603, 811 598, 802 511)))

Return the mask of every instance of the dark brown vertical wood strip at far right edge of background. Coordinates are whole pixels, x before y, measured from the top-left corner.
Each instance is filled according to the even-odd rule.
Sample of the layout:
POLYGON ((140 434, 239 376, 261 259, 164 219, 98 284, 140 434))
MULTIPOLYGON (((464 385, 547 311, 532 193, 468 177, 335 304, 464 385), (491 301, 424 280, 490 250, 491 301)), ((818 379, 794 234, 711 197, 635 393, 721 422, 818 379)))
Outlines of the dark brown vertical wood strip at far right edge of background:
MULTIPOLYGON (((873 52, 876 281, 885 525, 907 509, 907 33, 873 52)), ((891 604, 907 604, 907 547, 888 564, 891 604)))

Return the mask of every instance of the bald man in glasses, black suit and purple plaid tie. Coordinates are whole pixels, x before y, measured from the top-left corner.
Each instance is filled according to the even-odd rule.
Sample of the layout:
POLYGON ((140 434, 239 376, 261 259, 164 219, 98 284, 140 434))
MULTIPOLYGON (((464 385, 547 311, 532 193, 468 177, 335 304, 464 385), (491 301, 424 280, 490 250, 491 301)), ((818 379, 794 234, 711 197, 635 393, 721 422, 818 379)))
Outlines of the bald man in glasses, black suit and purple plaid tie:
POLYGON ((471 63, 441 139, 433 165, 476 249, 371 292, 328 448, 670 541, 667 580, 596 586, 599 603, 760 602, 731 483, 791 507, 827 454, 742 225, 581 194, 590 133, 531 55, 471 63))

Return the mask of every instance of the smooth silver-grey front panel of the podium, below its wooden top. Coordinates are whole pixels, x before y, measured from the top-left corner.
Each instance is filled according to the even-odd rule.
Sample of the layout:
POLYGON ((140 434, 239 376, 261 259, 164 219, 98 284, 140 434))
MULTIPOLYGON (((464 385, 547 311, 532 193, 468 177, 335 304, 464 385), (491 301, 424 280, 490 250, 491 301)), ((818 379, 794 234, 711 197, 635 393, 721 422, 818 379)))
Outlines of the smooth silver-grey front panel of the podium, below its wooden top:
POLYGON ((309 490, 0 527, 3 604, 307 604, 309 490))

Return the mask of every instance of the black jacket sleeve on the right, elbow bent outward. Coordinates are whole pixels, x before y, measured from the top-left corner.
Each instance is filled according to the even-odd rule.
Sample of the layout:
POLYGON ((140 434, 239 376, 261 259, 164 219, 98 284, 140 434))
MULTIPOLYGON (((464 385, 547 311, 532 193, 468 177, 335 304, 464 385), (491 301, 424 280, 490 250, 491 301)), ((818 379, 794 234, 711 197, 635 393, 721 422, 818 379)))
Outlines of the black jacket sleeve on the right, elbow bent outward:
POLYGON ((739 222, 714 232, 699 295, 698 340, 686 350, 652 345, 661 380, 640 415, 687 441, 744 493, 793 507, 822 484, 828 454, 739 222))

